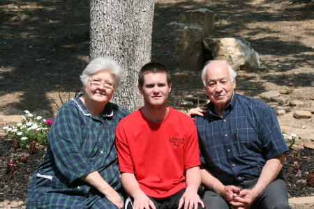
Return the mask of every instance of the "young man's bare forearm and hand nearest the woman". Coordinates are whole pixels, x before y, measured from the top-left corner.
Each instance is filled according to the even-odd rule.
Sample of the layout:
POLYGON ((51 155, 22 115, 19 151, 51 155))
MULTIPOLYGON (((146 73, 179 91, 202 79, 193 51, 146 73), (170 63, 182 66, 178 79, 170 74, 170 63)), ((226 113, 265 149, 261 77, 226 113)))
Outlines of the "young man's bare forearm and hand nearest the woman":
POLYGON ((121 173, 121 183, 126 192, 134 199, 133 209, 156 209, 154 203, 140 189, 140 185, 137 183, 133 173, 121 173))

